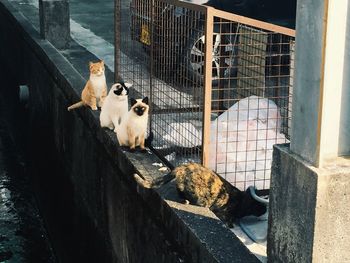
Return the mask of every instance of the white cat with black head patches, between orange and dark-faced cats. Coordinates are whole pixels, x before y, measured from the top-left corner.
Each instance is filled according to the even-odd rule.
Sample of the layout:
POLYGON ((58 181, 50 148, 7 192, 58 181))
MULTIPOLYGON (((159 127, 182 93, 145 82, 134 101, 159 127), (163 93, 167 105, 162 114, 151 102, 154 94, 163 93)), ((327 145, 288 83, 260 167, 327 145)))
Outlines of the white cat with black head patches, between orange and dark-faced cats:
POLYGON ((115 129, 128 113, 128 94, 130 83, 114 84, 103 103, 100 115, 101 127, 115 129))

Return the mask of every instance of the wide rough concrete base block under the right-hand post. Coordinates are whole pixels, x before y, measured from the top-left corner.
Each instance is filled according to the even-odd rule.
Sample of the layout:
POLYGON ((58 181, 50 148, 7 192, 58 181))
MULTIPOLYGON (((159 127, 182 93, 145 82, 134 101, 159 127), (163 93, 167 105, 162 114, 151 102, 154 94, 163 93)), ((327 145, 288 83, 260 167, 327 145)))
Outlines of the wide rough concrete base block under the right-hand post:
POLYGON ((268 262, 350 262, 350 160, 322 169, 275 146, 268 262))

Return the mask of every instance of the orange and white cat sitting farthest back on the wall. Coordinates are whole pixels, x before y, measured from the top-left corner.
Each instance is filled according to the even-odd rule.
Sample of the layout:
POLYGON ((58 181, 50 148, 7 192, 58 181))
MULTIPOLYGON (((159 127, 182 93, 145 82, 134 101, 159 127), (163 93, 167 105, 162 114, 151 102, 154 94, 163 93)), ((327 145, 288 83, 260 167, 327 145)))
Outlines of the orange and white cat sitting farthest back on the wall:
POLYGON ((89 63, 90 78, 86 82, 81 92, 81 101, 68 107, 68 111, 89 106, 92 110, 97 110, 97 105, 102 107, 103 101, 107 96, 107 84, 105 76, 104 61, 89 63))

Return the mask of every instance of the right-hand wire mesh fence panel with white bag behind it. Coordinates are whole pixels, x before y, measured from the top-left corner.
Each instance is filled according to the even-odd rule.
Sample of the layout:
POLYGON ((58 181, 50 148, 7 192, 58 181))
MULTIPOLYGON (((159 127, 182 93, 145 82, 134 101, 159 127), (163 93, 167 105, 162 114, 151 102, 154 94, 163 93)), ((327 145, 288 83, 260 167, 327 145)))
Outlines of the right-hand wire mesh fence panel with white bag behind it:
POLYGON ((259 21, 214 21, 220 74, 212 85, 207 165, 238 188, 268 189, 273 145, 289 139, 294 37, 259 21))

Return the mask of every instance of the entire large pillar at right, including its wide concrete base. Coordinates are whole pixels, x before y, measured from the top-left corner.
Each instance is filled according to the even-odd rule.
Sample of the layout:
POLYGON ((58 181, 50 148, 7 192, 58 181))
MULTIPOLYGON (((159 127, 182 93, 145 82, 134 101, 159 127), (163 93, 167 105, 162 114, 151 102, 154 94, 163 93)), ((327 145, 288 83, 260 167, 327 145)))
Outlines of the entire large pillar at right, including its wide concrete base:
POLYGON ((291 143, 274 149, 269 262, 350 262, 350 0, 298 0, 291 143))

